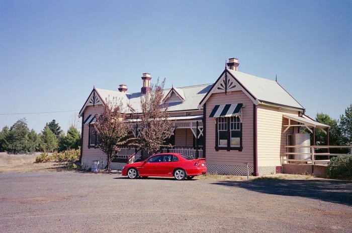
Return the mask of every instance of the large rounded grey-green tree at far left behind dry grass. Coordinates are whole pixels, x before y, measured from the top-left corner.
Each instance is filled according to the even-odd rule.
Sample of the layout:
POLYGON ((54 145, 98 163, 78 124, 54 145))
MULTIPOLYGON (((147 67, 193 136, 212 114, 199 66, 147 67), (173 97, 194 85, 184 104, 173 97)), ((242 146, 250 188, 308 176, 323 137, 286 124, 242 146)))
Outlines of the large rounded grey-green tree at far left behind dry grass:
POLYGON ((27 127, 26 119, 18 120, 6 136, 7 141, 7 152, 9 153, 27 153, 29 129, 27 127))

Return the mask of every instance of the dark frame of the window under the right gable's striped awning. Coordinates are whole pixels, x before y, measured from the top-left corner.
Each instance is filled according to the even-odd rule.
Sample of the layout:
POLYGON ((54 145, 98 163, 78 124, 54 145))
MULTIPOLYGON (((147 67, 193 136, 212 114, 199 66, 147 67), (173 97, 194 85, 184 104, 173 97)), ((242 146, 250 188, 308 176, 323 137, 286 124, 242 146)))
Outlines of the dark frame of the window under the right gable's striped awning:
POLYGON ((243 127, 242 127, 242 122, 240 121, 239 117, 226 117, 226 118, 216 118, 216 124, 215 124, 215 150, 227 150, 227 151, 242 151, 242 133, 243 133, 243 127), (225 120, 224 122, 219 122, 222 121, 220 119, 225 120), (235 119, 235 122, 232 122, 231 120, 235 119), (233 129, 232 124, 234 124, 233 129), (226 124, 226 126, 221 126, 220 124, 226 124), (219 130, 219 127, 222 128, 222 130, 219 130), (226 127, 226 135, 227 135, 227 145, 219 145, 219 131, 225 131, 224 128, 226 127), (238 129, 239 127, 239 129, 238 129), (239 146, 231 146, 231 133, 239 132, 239 146))

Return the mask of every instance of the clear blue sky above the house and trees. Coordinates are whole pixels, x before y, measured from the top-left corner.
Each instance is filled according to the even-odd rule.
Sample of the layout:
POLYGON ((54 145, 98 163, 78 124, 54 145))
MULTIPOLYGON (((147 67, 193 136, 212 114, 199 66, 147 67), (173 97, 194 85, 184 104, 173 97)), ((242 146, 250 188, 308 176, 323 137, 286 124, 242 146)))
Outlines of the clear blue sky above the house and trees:
POLYGON ((352 103, 352 1, 0 0, 0 130, 80 128, 94 85, 213 83, 232 57, 338 119, 352 103))

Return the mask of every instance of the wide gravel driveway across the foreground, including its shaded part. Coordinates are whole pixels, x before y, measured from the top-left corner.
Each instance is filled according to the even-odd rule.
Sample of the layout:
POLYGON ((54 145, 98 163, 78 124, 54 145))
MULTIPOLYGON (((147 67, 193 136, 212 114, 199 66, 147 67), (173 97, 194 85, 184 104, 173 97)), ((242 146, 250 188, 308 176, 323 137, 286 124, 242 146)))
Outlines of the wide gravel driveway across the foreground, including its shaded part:
POLYGON ((352 182, 0 174, 1 232, 351 232, 352 182))

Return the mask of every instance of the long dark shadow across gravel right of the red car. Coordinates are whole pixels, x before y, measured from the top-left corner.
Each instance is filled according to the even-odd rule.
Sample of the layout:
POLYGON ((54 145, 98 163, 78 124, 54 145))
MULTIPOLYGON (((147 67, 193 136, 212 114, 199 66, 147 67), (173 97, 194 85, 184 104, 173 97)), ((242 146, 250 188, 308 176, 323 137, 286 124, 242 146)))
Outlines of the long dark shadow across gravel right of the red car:
POLYGON ((252 181, 218 181, 213 184, 250 191, 299 196, 352 205, 352 182, 339 180, 252 180, 252 181))

